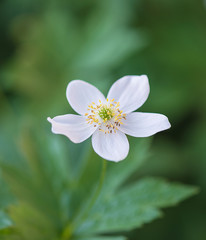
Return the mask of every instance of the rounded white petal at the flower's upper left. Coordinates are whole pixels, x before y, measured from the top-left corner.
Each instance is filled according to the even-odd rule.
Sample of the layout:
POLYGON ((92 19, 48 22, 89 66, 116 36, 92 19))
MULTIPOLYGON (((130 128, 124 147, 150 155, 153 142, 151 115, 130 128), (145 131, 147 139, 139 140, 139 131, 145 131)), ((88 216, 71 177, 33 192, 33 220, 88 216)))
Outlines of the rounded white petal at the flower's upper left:
POLYGON ((99 100, 105 101, 104 95, 93 85, 82 80, 71 81, 66 90, 66 96, 71 107, 79 114, 87 112, 88 105, 99 100))

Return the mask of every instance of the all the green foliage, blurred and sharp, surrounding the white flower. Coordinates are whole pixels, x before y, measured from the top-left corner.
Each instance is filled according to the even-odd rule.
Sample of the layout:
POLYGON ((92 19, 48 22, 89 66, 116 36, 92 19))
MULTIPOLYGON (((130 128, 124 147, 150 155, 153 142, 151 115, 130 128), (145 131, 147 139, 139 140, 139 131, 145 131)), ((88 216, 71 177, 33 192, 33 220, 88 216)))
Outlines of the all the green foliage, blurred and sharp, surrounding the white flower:
POLYGON ((3 0, 0 18, 0 239, 62 240, 74 225, 72 238, 84 240, 205 239, 202 1, 3 0), (87 212, 101 160, 89 144, 51 135, 46 117, 71 112, 63 94, 70 80, 106 93, 127 74, 149 76, 141 110, 169 116, 172 129, 151 148, 130 139, 129 158, 108 163, 87 212), (201 194, 131 232, 197 191, 165 178, 199 185, 201 194))

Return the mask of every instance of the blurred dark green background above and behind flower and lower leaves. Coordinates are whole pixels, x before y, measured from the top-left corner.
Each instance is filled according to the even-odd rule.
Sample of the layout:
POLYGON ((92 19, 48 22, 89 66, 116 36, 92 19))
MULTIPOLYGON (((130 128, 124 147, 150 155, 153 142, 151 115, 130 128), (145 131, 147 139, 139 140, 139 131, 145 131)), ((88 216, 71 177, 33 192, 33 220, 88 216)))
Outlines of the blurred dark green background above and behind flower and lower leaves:
POLYGON ((172 128, 153 138, 135 177, 162 176, 201 192, 128 233, 129 239, 206 238, 202 0, 1 0, 0 36, 0 157, 24 168, 21 155, 32 155, 32 132, 41 141, 40 155, 49 151, 45 139, 55 138, 74 149, 75 158, 84 144, 53 135, 46 121, 72 112, 68 82, 82 79, 106 94, 118 78, 146 74, 151 93, 140 111, 165 114, 172 128))

